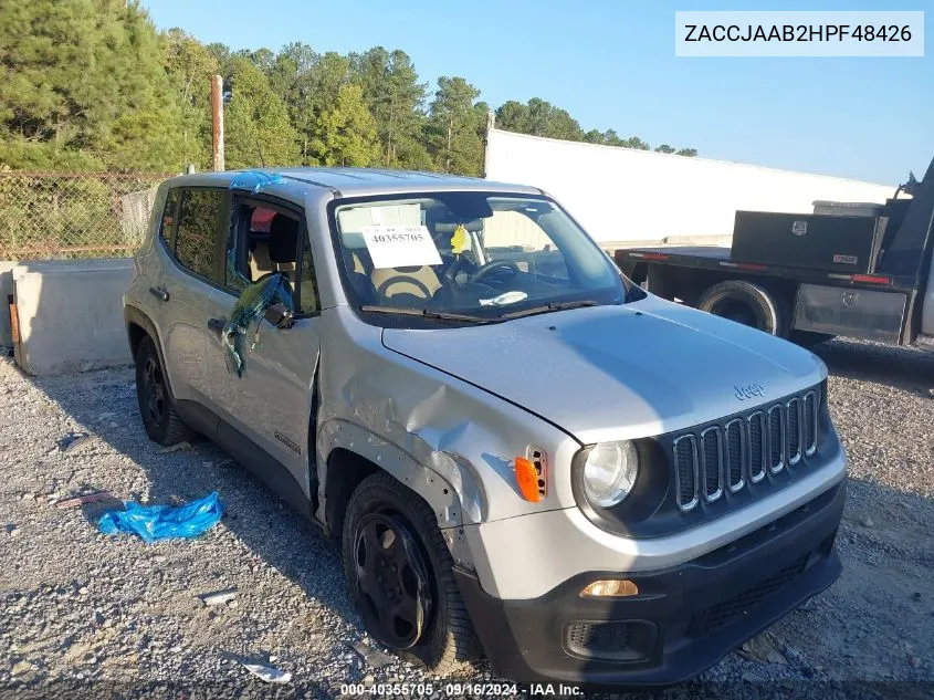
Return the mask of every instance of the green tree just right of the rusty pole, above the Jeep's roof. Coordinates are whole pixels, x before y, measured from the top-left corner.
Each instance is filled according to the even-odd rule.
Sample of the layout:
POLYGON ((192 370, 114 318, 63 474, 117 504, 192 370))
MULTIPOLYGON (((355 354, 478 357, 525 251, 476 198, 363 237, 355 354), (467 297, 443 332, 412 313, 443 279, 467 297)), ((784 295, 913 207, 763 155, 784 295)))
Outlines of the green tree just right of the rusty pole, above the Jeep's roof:
POLYGON ((293 165, 297 135, 282 100, 249 59, 230 60, 230 101, 224 108, 224 148, 231 169, 293 165))

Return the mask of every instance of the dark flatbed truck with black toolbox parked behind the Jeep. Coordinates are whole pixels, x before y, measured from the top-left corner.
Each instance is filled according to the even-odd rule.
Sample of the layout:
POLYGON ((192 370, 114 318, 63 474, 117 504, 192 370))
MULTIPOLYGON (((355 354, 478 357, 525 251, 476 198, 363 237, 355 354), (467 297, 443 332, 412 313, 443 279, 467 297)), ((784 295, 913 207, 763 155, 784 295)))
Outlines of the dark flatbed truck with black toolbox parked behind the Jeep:
MULTIPOLYGON (((880 207, 875 229, 870 230, 872 255, 860 270, 846 270, 856 257, 839 254, 829 255, 827 263, 815 258, 812 264, 807 260, 788 264, 790 257, 780 239, 772 248, 773 243, 766 244, 754 260, 737 257, 736 231, 733 248, 619 249, 613 258, 627 276, 659 296, 802 345, 848 336, 934 349, 934 160, 924 179, 910 189, 911 199, 898 199, 896 191, 880 207)), ((821 217, 831 215, 758 216, 779 224, 800 219, 789 227, 787 245, 820 250, 818 227, 812 226, 812 240, 800 241, 808 221, 828 224, 821 217)), ((872 229, 873 222, 862 216, 838 217, 829 223, 839 233, 836 240, 846 244, 848 227, 872 229)))

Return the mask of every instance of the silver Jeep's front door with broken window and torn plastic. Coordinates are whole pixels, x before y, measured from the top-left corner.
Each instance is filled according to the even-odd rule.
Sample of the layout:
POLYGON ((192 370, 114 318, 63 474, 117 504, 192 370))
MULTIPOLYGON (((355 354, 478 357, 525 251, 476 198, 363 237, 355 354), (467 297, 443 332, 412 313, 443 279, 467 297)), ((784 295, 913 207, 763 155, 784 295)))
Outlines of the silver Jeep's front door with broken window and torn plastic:
POLYGON ((235 198, 232 211, 223 289, 208 300, 214 328, 231 317, 249 284, 274 272, 288 278, 295 318, 290 328, 280 330, 260 314, 244 334, 238 359, 231 357, 221 332, 208 335, 212 408, 239 433, 233 439, 245 438, 279 462, 252 460, 250 467, 261 471, 261 478, 290 500, 297 495, 290 492, 294 489, 309 499, 314 449, 309 450, 308 431, 321 316, 304 215, 292 205, 262 198, 235 198), (241 361, 238 376, 232 370, 241 361), (276 473, 281 467, 285 479, 276 473))

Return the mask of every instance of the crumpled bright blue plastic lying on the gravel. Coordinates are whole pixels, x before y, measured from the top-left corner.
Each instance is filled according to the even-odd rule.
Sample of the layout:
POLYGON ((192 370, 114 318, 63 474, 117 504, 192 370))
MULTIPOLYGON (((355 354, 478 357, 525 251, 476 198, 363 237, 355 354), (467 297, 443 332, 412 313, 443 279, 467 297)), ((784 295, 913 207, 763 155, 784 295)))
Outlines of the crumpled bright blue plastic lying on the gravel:
POLYGON ((197 537, 218 524, 223 504, 217 491, 185 505, 140 505, 127 501, 125 511, 104 513, 97 527, 104 534, 128 532, 146 542, 197 537))

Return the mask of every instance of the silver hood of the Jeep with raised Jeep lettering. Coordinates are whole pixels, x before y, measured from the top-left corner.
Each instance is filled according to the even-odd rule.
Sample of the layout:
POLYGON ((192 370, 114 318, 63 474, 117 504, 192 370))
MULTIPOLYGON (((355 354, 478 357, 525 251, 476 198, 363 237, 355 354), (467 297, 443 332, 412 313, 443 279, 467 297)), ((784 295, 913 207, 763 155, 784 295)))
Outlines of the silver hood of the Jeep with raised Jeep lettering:
POLYGON ((808 351, 652 295, 490 325, 387 328, 382 343, 585 445, 679 430, 827 376, 808 351))

